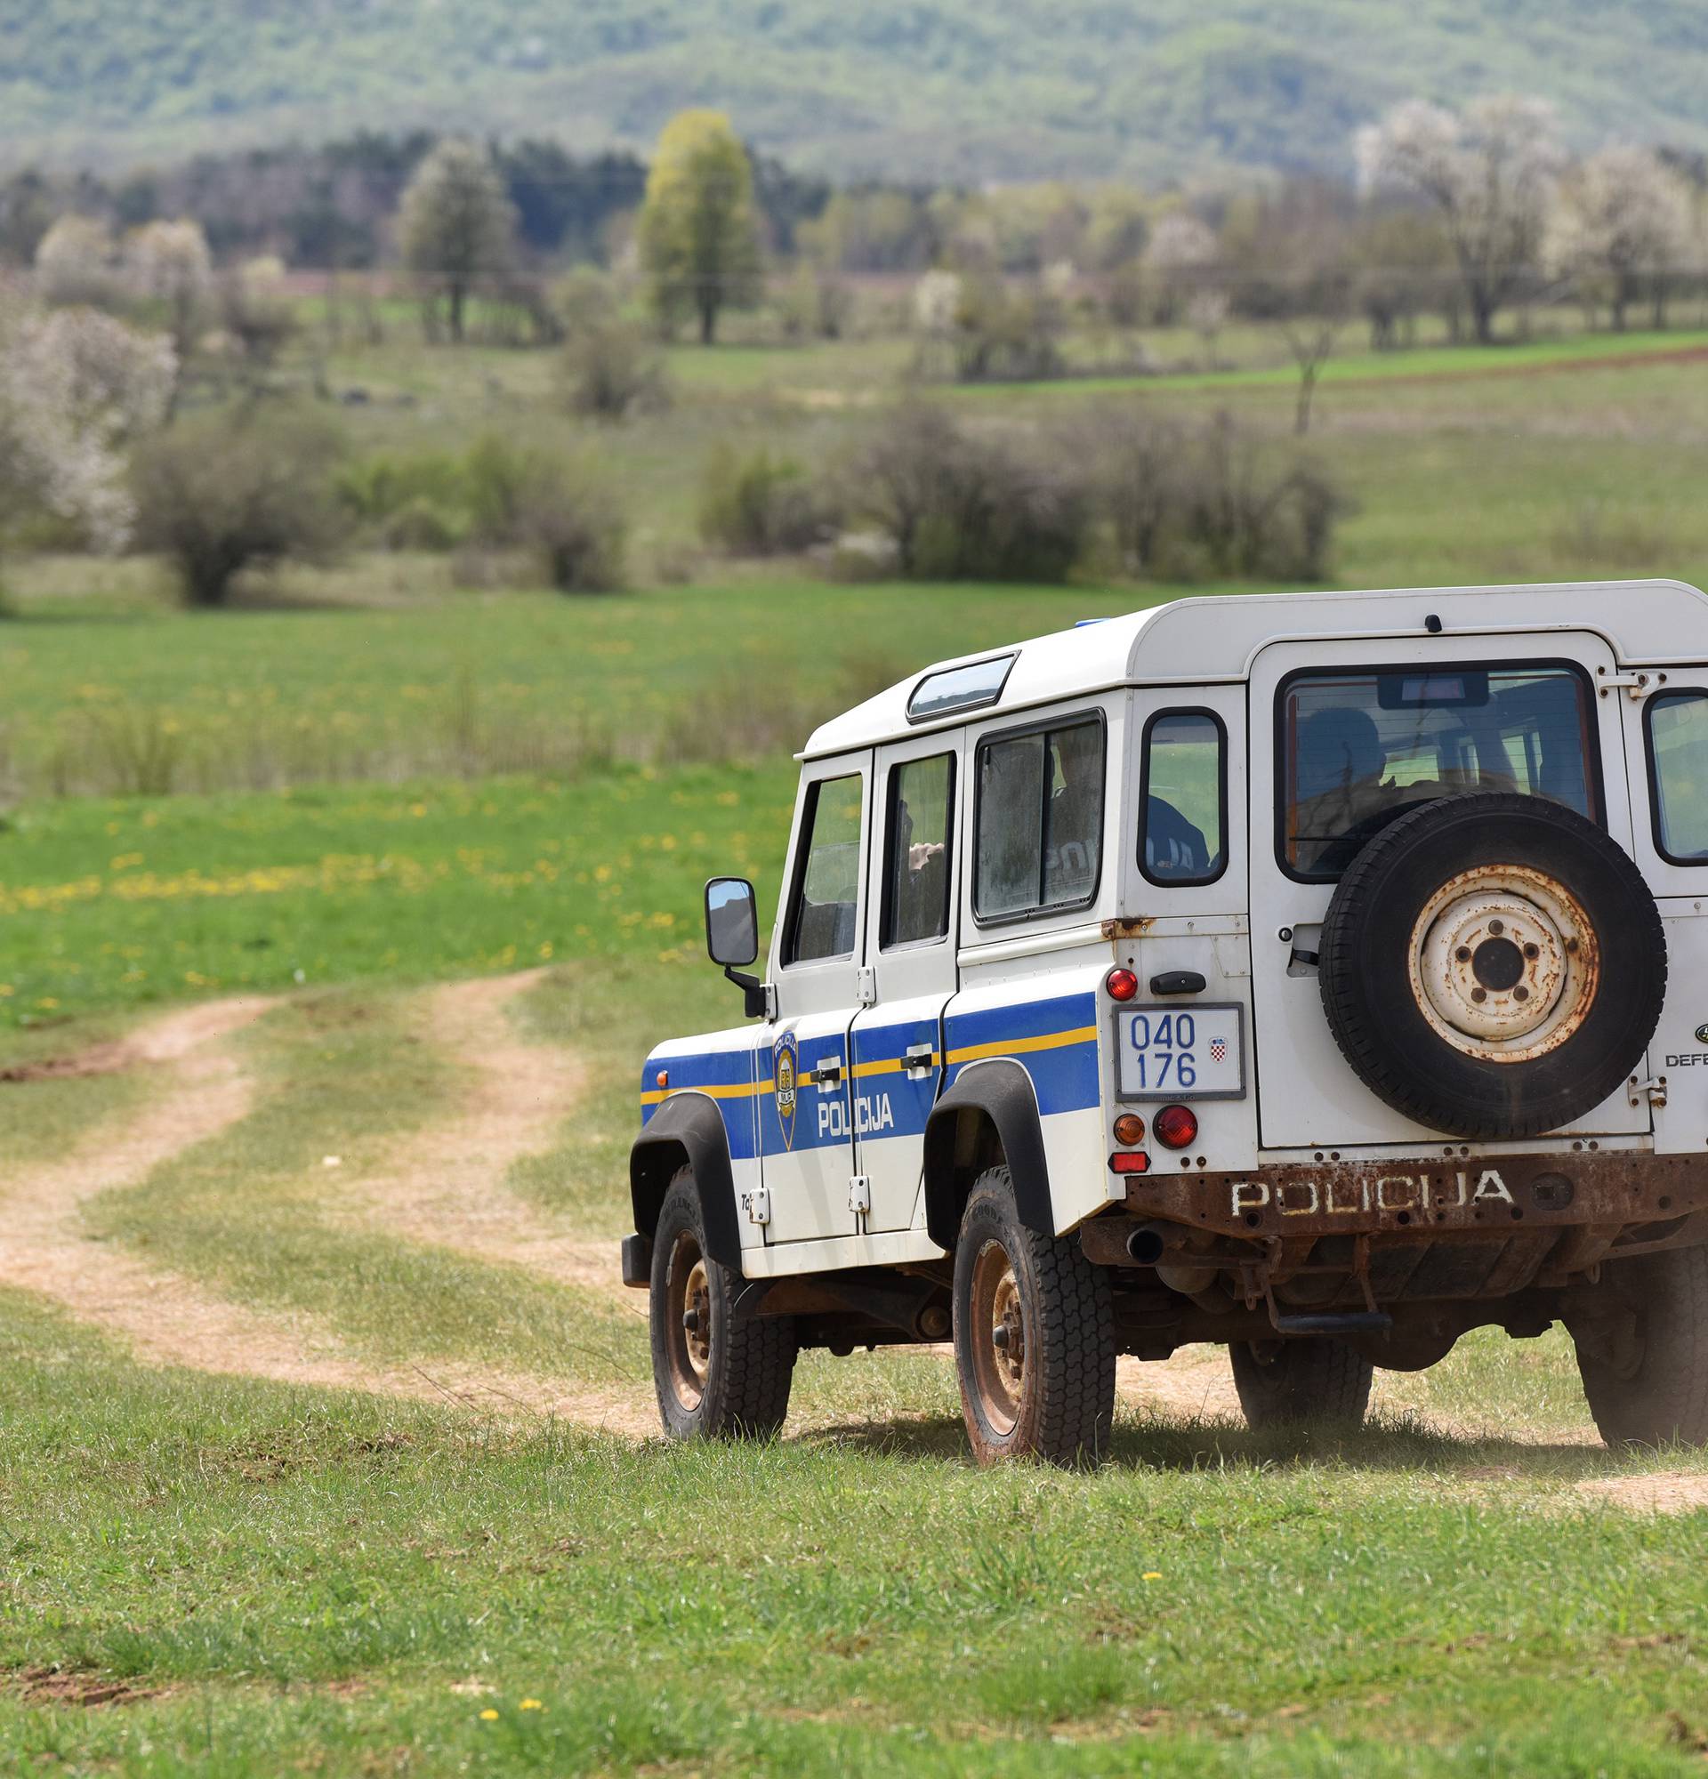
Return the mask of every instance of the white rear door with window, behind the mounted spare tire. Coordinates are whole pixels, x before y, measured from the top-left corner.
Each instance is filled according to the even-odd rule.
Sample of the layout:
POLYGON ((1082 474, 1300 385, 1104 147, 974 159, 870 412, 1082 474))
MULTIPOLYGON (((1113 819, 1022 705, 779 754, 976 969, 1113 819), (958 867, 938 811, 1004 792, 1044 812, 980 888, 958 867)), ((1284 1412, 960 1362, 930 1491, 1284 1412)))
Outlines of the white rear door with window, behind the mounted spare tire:
MULTIPOLYGON (((1439 1140, 1377 1099, 1329 1032, 1315 954, 1358 836, 1325 836, 1359 824, 1374 833, 1384 809, 1443 790, 1518 788, 1587 809, 1630 852, 1623 713, 1599 683, 1614 672, 1607 642, 1583 632, 1358 637, 1260 651, 1249 735, 1263 1147, 1439 1140)), ((1649 1108, 1615 1094, 1567 1130, 1646 1131, 1649 1108)))

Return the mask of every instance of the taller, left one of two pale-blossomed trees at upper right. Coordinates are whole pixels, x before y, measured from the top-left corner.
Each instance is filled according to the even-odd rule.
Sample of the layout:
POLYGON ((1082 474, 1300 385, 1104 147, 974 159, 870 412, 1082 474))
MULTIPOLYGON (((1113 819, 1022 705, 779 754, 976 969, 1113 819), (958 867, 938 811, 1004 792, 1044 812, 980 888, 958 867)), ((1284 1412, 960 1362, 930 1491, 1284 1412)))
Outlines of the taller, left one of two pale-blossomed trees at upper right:
POLYGON ((1473 100, 1462 112, 1407 100, 1359 130, 1356 149, 1366 190, 1411 192, 1439 212, 1487 345, 1496 311, 1541 260, 1564 164, 1553 107, 1511 94, 1473 100))

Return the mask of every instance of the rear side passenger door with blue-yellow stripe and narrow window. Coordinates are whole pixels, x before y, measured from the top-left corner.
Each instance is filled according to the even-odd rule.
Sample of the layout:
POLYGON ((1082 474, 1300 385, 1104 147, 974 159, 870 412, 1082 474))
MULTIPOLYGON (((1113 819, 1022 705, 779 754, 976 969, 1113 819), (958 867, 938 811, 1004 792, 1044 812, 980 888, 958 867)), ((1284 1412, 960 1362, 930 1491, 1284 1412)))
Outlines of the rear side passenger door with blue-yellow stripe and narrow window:
POLYGON ((854 1018, 856 1194, 847 1228, 906 1229, 925 1119, 943 1082, 943 1009, 955 993, 961 825, 959 731, 877 749, 866 961, 872 1003, 854 1018))

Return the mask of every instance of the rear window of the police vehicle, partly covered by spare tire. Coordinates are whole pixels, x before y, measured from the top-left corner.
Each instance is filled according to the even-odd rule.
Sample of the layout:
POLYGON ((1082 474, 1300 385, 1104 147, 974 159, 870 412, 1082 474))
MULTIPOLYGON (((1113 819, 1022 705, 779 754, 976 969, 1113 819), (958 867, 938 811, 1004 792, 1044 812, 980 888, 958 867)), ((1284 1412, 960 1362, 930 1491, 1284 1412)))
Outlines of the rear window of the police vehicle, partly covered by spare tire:
POLYGON ((1598 822, 1583 674, 1560 664, 1293 674, 1279 692, 1279 854, 1329 881, 1432 797, 1509 790, 1598 822))

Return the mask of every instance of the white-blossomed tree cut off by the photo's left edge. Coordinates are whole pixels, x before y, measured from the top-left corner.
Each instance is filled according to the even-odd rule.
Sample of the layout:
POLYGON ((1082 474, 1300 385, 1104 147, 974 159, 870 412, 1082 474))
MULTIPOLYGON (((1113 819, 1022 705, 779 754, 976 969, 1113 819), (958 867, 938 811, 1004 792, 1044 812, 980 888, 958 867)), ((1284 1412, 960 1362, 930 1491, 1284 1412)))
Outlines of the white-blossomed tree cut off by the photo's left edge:
POLYGON ((126 448, 162 423, 178 356, 96 310, 0 317, 0 527, 46 507, 96 550, 135 523, 126 448))

